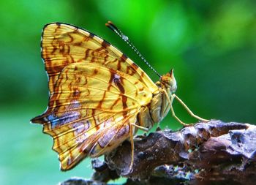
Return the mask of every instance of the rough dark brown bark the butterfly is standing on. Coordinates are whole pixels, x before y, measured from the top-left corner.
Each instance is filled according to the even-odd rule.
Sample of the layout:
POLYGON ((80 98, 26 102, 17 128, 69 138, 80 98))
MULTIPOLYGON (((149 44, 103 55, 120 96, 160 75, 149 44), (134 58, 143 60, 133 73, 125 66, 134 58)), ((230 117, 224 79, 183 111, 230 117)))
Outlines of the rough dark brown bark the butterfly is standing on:
POLYGON ((132 171, 130 162, 131 146, 126 141, 105 156, 105 162, 93 161, 91 183, 124 176, 129 185, 255 184, 256 126, 212 120, 177 132, 152 132, 135 137, 132 171))

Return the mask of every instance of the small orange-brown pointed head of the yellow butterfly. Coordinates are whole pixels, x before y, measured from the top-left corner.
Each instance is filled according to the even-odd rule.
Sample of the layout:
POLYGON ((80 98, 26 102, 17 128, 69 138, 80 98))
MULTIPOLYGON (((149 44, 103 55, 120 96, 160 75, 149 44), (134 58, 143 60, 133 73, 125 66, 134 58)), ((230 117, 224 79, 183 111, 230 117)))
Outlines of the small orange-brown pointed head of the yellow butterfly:
POLYGON ((170 93, 174 93, 177 89, 177 83, 174 77, 173 69, 167 72, 166 75, 162 75, 160 78, 162 88, 170 89, 170 93))

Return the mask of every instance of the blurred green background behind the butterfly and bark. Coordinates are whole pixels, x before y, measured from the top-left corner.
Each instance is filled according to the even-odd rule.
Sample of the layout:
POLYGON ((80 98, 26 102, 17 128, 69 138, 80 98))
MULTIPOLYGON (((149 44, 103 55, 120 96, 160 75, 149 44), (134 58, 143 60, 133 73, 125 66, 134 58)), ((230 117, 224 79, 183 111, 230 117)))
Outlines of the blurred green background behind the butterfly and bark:
MULTIPOLYGON (((89 178, 89 159, 59 171, 52 139, 29 120, 48 104, 42 27, 71 23, 105 38, 157 76, 105 27, 121 28, 160 74, 175 69, 177 94, 203 118, 256 122, 255 1, 1 1, 0 184, 57 184, 89 178)), ((181 105, 176 114, 195 122, 181 105)), ((180 127, 169 115, 161 127, 180 127)))

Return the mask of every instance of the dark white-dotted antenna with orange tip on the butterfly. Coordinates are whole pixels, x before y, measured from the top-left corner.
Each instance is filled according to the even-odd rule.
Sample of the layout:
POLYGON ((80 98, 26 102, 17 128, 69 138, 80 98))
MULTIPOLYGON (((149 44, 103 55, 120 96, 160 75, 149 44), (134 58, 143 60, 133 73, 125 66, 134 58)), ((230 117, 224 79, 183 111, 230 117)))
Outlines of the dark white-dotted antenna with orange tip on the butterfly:
POLYGON ((138 56, 148 65, 148 67, 152 71, 154 71, 157 74, 157 76, 159 76, 159 78, 161 78, 161 75, 159 75, 159 73, 153 67, 151 67, 151 65, 148 63, 148 61, 146 61, 146 59, 140 54, 140 52, 137 50, 137 48, 135 48, 135 46, 132 45, 132 42, 129 41, 129 38, 125 34, 123 34, 120 29, 118 29, 111 21, 108 21, 108 23, 105 23, 105 25, 109 29, 114 31, 119 37, 121 37, 121 39, 123 39, 124 42, 127 42, 127 45, 129 45, 129 47, 131 47, 132 50, 134 50, 135 53, 137 53, 138 56))

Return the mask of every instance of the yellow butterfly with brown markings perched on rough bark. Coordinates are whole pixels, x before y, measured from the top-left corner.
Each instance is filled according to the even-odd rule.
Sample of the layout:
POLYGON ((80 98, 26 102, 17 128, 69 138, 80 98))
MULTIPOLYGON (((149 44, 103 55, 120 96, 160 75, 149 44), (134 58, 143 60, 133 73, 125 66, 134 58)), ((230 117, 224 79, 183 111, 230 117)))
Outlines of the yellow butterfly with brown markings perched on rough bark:
MULTIPOLYGON (((131 45, 113 23, 107 26, 131 45)), ((49 102, 45 113, 31 122, 42 124, 43 132, 53 137, 61 170, 75 167, 86 156, 108 154, 127 139, 132 144, 132 168, 132 137, 138 129, 148 131, 169 110, 184 124, 175 116, 173 99, 190 110, 174 94, 173 69, 154 83, 109 42, 67 23, 45 25, 41 47, 49 102)))

